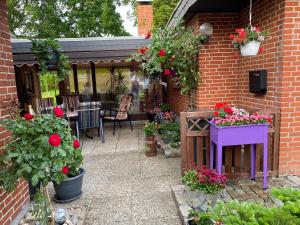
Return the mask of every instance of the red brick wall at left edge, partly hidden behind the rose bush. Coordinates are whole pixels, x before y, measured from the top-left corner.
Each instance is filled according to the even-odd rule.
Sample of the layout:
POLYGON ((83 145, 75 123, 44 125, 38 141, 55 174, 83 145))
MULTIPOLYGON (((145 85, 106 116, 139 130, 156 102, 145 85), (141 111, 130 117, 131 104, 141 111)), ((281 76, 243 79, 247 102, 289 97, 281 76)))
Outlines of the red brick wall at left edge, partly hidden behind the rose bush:
MULTIPOLYGON (((5 0, 0 0, 0 102, 17 98, 15 74, 8 32, 5 0)), ((8 110, 1 104, 0 119, 8 116, 8 110)), ((9 133, 0 127, 0 149, 8 141, 9 133)), ((6 193, 0 187, 0 224, 9 225, 28 200, 27 183, 20 180, 16 191, 6 193)))

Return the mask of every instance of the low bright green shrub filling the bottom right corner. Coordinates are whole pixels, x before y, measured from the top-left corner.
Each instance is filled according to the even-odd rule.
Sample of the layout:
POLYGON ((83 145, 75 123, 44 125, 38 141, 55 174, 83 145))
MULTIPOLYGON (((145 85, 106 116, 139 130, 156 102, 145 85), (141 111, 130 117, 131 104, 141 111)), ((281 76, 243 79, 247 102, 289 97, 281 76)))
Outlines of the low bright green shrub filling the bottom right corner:
POLYGON ((210 224, 209 221, 219 221, 224 225, 299 225, 300 190, 274 188, 272 194, 284 205, 266 208, 255 202, 218 202, 208 213, 191 210, 189 218, 193 220, 192 225, 206 225, 210 224))

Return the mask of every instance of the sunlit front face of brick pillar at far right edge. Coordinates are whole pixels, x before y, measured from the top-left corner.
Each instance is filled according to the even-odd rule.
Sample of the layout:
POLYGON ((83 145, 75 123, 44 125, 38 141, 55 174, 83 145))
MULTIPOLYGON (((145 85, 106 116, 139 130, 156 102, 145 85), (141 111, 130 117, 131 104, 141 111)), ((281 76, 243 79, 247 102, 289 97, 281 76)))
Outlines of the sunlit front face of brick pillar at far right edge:
POLYGON ((279 145, 280 174, 300 174, 300 1, 285 0, 279 145))

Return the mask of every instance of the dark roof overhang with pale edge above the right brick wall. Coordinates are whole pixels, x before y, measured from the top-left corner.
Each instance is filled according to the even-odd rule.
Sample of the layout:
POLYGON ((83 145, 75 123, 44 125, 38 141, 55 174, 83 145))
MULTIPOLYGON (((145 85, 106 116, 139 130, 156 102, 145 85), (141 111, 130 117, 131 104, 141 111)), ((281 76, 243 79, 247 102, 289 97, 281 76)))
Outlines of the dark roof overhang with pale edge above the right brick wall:
POLYGON ((249 0, 181 0, 170 17, 167 26, 174 26, 178 20, 187 14, 239 12, 247 5, 249 5, 249 0))

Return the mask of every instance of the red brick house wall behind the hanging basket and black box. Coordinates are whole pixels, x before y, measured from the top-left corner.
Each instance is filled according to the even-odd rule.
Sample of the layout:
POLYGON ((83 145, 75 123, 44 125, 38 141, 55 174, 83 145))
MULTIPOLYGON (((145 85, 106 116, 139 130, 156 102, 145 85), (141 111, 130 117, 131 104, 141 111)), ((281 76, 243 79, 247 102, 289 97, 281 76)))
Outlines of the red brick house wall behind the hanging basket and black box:
MULTIPOLYGON (((279 173, 300 174, 300 1, 255 1, 252 24, 270 36, 255 57, 241 57, 229 39, 235 28, 248 24, 248 10, 199 13, 190 20, 188 25, 197 30, 204 22, 214 28, 209 42, 200 47, 197 107, 212 109, 216 102, 228 101, 248 109, 280 109, 279 173), (259 69, 268 71, 265 95, 249 92, 249 71, 259 69)), ((168 91, 172 109, 186 110, 186 96, 174 91, 172 82, 168 91)))

